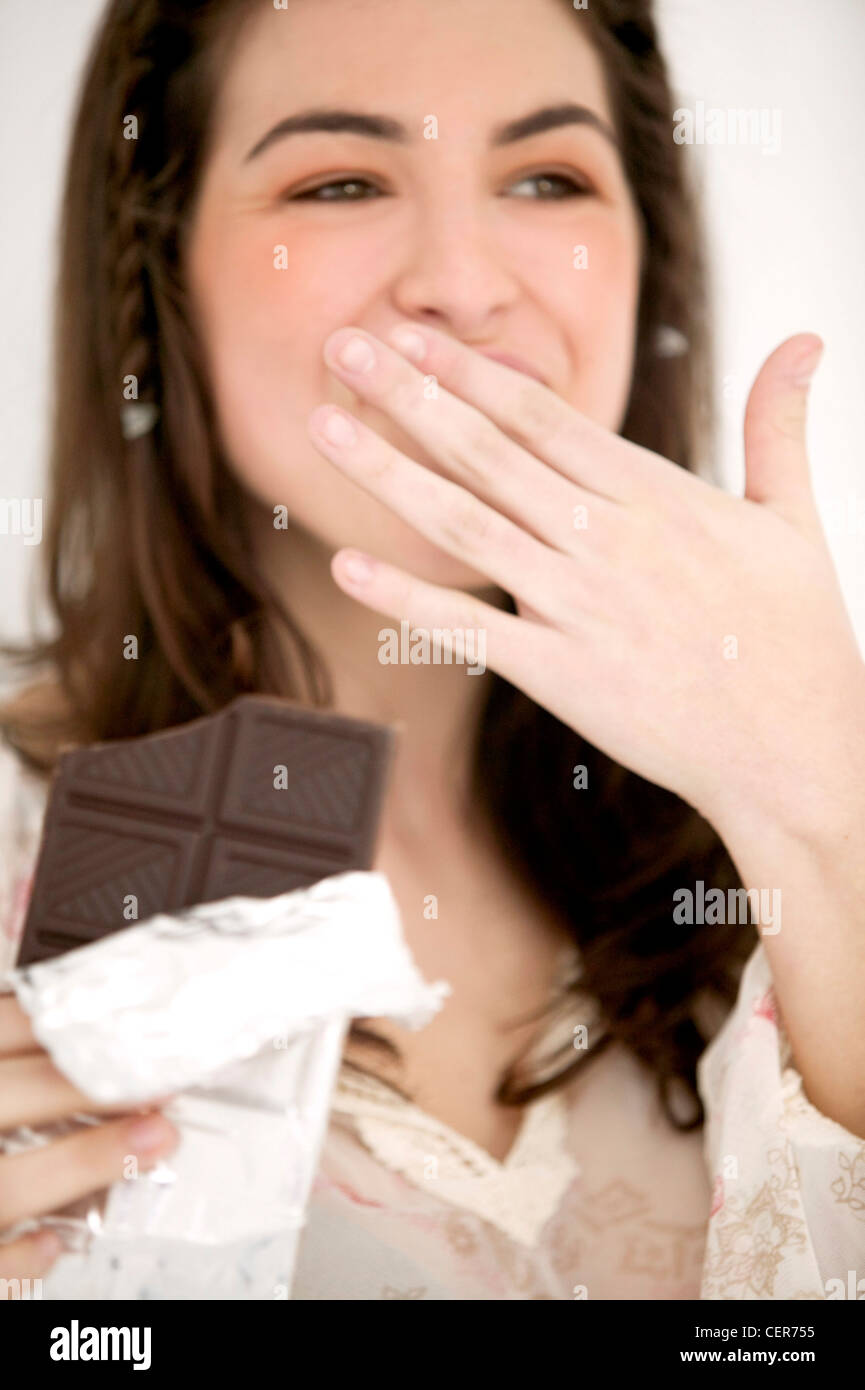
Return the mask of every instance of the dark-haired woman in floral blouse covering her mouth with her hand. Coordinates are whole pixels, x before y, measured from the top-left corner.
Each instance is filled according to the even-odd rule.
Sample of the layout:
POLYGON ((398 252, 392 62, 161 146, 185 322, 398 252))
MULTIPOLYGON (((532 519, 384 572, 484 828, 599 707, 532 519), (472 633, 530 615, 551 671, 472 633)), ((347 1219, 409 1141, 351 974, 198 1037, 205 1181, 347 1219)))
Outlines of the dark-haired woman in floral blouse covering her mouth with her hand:
MULTIPOLYGON (((672 106, 644 0, 115 0, 95 40, 6 930, 64 746, 248 689, 399 723, 375 867, 453 995, 353 1029, 298 1298, 825 1297, 861 1234, 865 673, 808 481, 822 345, 761 370, 745 498, 698 478, 672 106), (488 669, 394 664, 403 621, 488 669)), ((0 1125, 79 1109, 0 1009, 0 1125)), ((0 1229, 120 1176, 129 1123, 0 1158, 0 1229)))

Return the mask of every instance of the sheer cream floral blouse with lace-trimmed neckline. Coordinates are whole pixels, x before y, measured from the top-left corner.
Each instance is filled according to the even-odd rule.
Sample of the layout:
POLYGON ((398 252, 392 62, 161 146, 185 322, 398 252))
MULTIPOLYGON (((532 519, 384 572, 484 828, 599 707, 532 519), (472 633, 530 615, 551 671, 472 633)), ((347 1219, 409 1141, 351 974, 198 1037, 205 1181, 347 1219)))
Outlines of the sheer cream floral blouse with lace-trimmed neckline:
MULTIPOLYGON (((0 745, 0 970, 45 805, 0 745)), ((562 986, 574 969, 576 952, 562 986)), ((573 1009, 563 991, 541 1049, 573 1009)), ((758 942, 700 1061, 701 1131, 670 1126, 617 1044, 526 1106, 503 1162, 343 1065, 292 1297, 865 1298, 865 1138, 809 1102, 790 1058, 758 942)))

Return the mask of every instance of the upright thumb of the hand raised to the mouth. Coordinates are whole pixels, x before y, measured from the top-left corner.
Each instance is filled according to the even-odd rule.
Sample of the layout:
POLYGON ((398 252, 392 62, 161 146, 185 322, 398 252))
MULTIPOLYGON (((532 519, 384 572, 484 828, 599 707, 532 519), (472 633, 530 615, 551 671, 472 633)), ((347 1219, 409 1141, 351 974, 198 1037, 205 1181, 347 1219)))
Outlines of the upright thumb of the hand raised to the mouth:
POLYGON ((823 353, 795 334, 766 357, 745 406, 745 498, 801 521, 815 512, 805 448, 808 388, 823 353))

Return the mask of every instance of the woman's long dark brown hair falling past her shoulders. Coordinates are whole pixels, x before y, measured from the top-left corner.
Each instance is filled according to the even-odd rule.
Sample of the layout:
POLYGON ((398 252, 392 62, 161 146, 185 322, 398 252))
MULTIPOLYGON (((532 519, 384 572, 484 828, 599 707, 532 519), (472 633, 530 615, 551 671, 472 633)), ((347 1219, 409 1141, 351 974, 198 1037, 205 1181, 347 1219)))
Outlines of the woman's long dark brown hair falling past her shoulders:
MULTIPOLYGON (((182 278, 218 79, 260 0, 110 0, 71 132, 54 320, 45 578, 56 635, 7 657, 39 680, 0 710, 8 744, 47 773, 70 746, 128 738, 220 709, 245 691, 331 701, 321 655, 267 584, 221 450, 182 278), (129 117, 138 120, 128 138, 129 117), (124 388, 159 400, 156 428, 121 432, 124 388), (281 624, 280 646, 274 627, 281 624), (136 634, 139 656, 122 659, 136 634), (289 657, 281 655, 291 653, 289 657)), ((708 459, 712 417, 702 238, 649 0, 592 0, 574 22, 601 57, 642 218, 636 363, 622 435, 683 468, 708 459), (661 325, 690 350, 656 350, 661 325)), ((702 1122, 695 1066, 734 998, 751 929, 676 929, 673 891, 738 887, 712 827, 588 745, 495 674, 476 748, 476 796, 509 858, 570 924, 579 990, 602 1027, 547 1074, 502 1079, 523 1104, 613 1040, 655 1074, 681 1129, 702 1122), (588 788, 574 791, 573 769, 588 788), (684 1088, 691 1113, 674 1104, 684 1088)), ((355 1023, 359 1042, 391 1044, 355 1023)))

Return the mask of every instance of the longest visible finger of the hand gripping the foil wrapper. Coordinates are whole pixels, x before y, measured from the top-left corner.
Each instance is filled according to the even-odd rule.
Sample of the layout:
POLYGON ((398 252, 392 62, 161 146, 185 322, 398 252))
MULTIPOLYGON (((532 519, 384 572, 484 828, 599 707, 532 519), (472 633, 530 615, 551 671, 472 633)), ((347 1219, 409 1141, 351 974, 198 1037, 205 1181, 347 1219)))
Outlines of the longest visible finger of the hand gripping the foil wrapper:
POLYGON ((138 1159, 142 1170, 152 1168, 178 1140, 174 1125, 153 1111, 0 1158, 0 1230, 25 1216, 61 1211, 79 1197, 108 1187, 124 1176, 129 1158, 138 1159))

